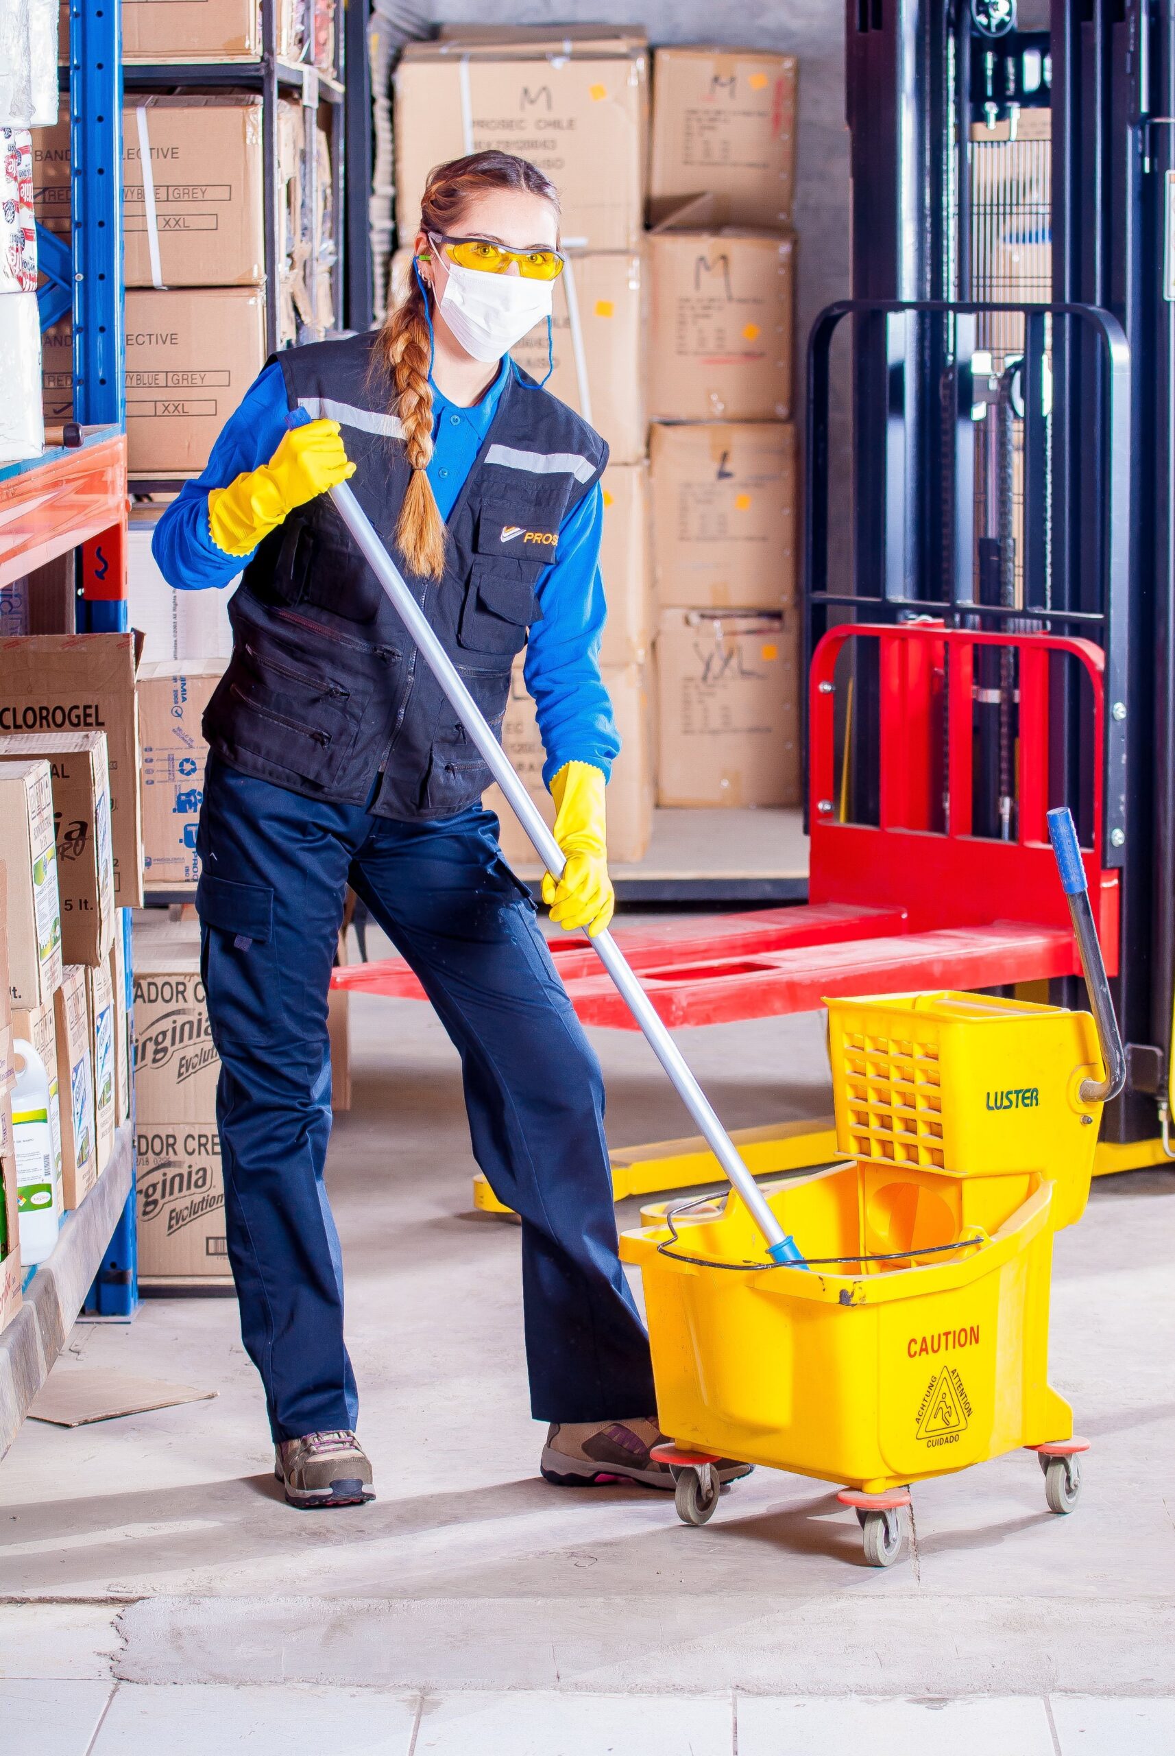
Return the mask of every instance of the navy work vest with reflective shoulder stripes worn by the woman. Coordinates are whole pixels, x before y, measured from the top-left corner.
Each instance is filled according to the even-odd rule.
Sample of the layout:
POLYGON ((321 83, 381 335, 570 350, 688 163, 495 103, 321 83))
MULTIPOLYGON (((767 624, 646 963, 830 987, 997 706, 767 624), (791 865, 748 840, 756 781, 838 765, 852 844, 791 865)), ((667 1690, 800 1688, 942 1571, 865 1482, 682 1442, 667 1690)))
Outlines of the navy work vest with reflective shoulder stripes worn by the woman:
MULTIPOLYGON (((510 662, 538 616, 535 583, 609 448, 533 379, 509 378, 447 522, 445 574, 424 579, 395 543, 410 471, 374 339, 281 353, 289 407, 342 423, 363 511, 500 730, 510 662)), ((365 804, 379 776, 372 811, 402 820, 481 797, 489 769, 326 495, 261 543, 228 613, 233 655, 203 734, 231 767, 340 804, 365 804)))

